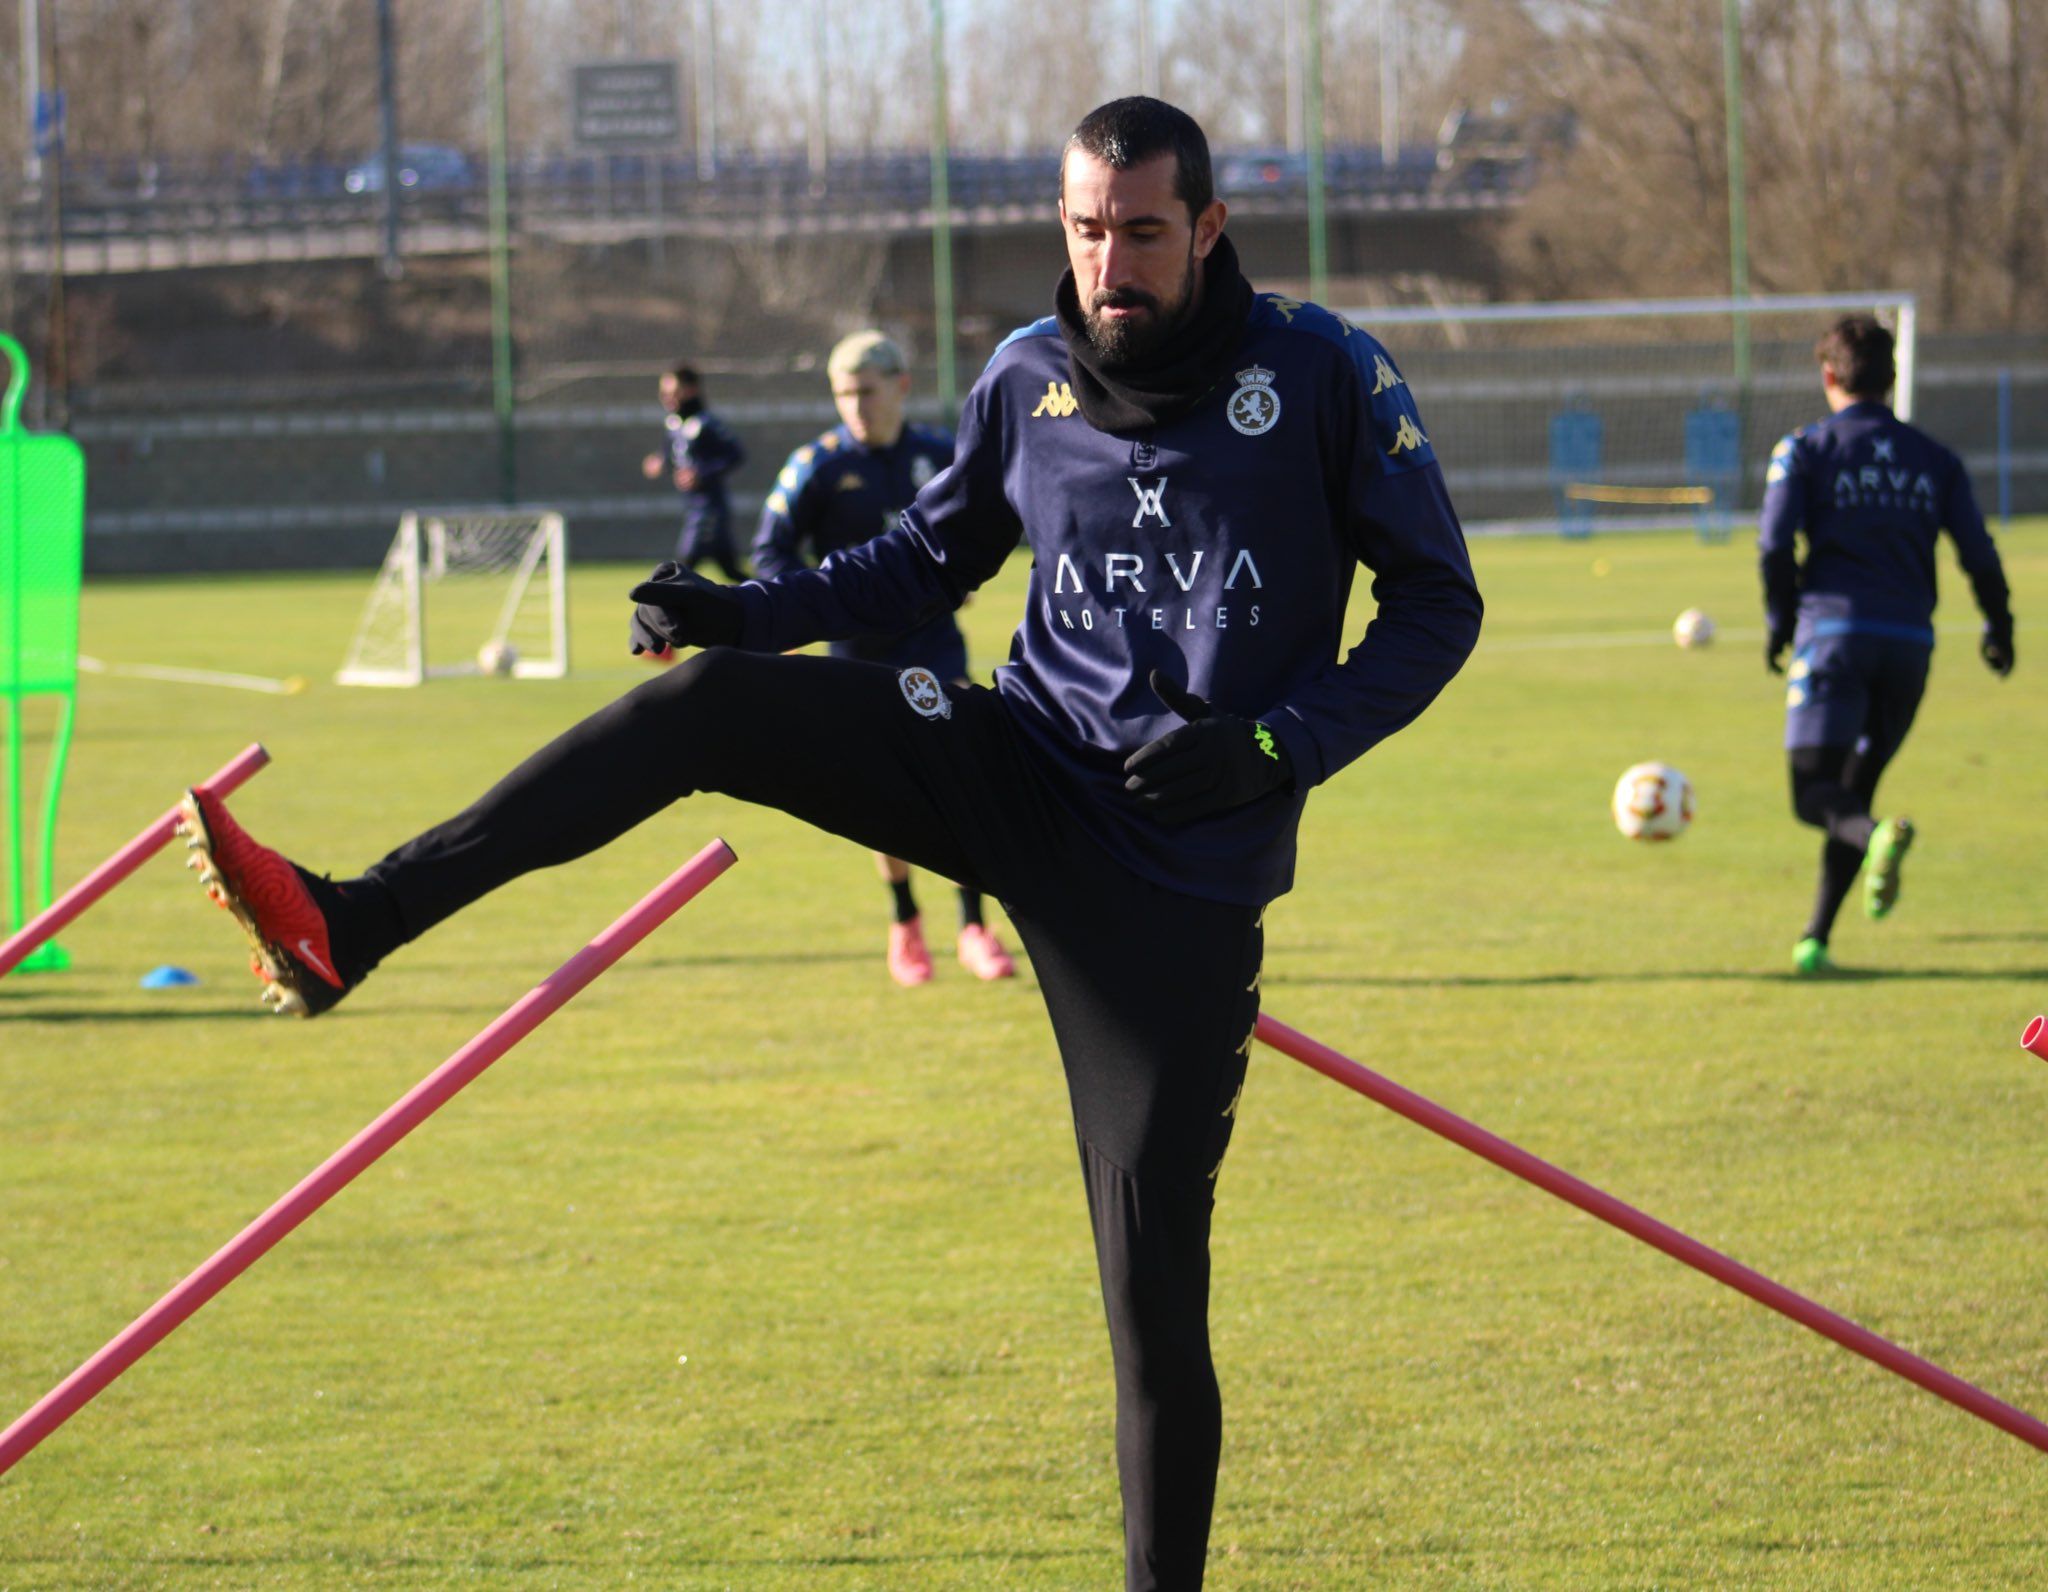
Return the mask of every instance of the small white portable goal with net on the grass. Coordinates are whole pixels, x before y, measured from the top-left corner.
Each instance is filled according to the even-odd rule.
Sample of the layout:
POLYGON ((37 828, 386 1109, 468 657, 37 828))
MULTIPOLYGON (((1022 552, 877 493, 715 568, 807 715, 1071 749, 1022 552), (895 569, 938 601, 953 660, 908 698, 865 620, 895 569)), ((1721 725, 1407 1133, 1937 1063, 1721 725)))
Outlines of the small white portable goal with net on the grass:
POLYGON ((344 686, 416 686, 449 674, 559 680, 569 672, 567 576, 567 527, 551 508, 412 510, 334 678, 344 686))

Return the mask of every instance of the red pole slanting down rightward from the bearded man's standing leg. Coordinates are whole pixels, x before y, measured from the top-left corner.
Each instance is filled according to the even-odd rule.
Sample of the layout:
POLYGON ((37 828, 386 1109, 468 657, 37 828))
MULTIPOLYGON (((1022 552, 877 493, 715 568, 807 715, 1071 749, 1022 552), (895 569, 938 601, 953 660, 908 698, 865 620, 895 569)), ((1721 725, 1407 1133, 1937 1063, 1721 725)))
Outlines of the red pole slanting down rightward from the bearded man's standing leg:
POLYGON ((1370 1067, 1362 1067, 1348 1055, 1339 1055, 1327 1045, 1319 1045, 1309 1039, 1309 1035, 1286 1027, 1278 1018, 1262 1014, 1255 1033, 1276 1051, 1292 1055, 1296 1061, 1315 1067, 1315 1072, 1325 1078, 1335 1078, 1346 1088, 1354 1088, 1368 1100, 1407 1117, 1417 1127, 1425 1127, 1432 1133, 1450 1139, 1460 1149, 1470 1149, 1475 1156, 1493 1162, 1503 1172, 1513 1172, 1518 1178, 1534 1182, 1546 1195, 1556 1195, 1561 1201, 1577 1205, 1587 1215, 1620 1227, 1630 1238, 1640 1238, 1653 1250, 1663 1250, 1673 1260, 1683 1260, 1688 1266, 1706 1272, 1716 1283, 1726 1283, 1737 1293, 1747 1293, 1759 1305, 1769 1305, 1780 1315, 1790 1315, 1802 1328, 1810 1328, 1823 1338, 1833 1338, 1837 1344, 1862 1354, 1866 1360, 1876 1360, 1886 1371, 1925 1387, 1929 1393, 1948 1399, 1958 1410, 1968 1410, 1978 1420, 1989 1420, 2001 1432, 2011 1432, 2021 1442, 2032 1442, 2042 1453, 2048 1453, 2048 1424, 2036 1420, 2025 1410, 2015 1410, 2013 1406, 1991 1397, 1985 1389, 1972 1387, 1962 1377, 1950 1375, 1931 1360, 1923 1360, 1919 1354, 1909 1354, 1898 1348, 1898 1344, 1880 1338, 1868 1328, 1860 1328, 1845 1315, 1835 1315, 1835 1311, 1823 1309, 1812 1299, 1792 1293, 1792 1289, 1774 1283, 1763 1272, 1753 1272, 1749 1266, 1729 1260, 1729 1256, 1706 1248, 1706 1244, 1700 1244, 1694 1238, 1688 1238, 1677 1227, 1667 1227, 1636 1207, 1614 1199, 1614 1195, 1602 1192, 1593 1184, 1571 1176, 1571 1172, 1563 1172, 1550 1166, 1550 1162, 1528 1154, 1520 1145, 1513 1145, 1495 1133, 1487 1133, 1487 1129, 1477 1123, 1468 1123, 1464 1117, 1444 1111, 1444 1106, 1434 1100, 1401 1088, 1401 1084, 1382 1078, 1370 1067))

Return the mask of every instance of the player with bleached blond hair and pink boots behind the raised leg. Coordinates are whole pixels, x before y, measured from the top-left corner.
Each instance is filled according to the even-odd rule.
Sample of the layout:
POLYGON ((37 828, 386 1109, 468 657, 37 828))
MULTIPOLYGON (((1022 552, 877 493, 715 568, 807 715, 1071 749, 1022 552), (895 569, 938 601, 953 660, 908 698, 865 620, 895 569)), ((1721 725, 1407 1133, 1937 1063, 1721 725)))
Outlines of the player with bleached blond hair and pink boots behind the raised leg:
MULTIPOLYGON (((754 574, 774 580, 821 563, 831 553, 893 531, 897 516, 938 471, 952 463, 952 432, 903 418, 909 365, 883 332, 854 332, 825 359, 840 424, 788 455, 762 504, 754 535, 754 574)), ((909 629, 854 635, 831 643, 834 658, 889 668, 926 668, 967 684, 967 637, 944 611, 909 629)), ((915 986, 932 977, 924 918, 901 856, 874 854, 895 906, 889 924, 889 975, 915 986)), ((961 885, 961 965, 981 979, 1016 975, 995 932, 981 920, 981 891, 961 885)))

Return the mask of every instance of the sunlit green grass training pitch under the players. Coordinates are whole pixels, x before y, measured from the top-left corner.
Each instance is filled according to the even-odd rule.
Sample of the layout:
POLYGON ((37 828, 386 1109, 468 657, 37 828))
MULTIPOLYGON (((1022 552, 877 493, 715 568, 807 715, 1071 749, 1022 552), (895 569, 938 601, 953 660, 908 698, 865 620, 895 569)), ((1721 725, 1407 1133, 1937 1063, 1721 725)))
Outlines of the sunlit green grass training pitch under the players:
MULTIPOLYGON (((1479 654, 1309 807, 1266 1008, 2048 1414, 2048 525, 2003 545, 2019 670, 1946 563, 1884 793, 1921 844, 1890 920, 1843 918, 1855 977, 1786 973, 1819 842, 1745 539, 1483 541, 1479 654), (1642 758, 1698 787, 1675 844, 1608 822, 1642 758)), ((86 678, 59 879, 258 738, 238 813, 369 863, 645 678, 631 574, 575 572, 569 680, 410 693, 326 684, 367 576, 90 584, 94 656, 315 684, 86 678)), ((983 674, 1020 592, 965 613, 983 674)), ((1118 1584, 1028 967, 897 990, 868 861, 723 799, 330 1020, 262 1016, 168 852, 72 971, 0 983, 0 1420, 717 834, 733 873, 0 1481, 0 1588, 1118 1584)), ((1219 1590, 2048 1584, 2048 1459, 1274 1053, 1214 1254, 1219 1590)))

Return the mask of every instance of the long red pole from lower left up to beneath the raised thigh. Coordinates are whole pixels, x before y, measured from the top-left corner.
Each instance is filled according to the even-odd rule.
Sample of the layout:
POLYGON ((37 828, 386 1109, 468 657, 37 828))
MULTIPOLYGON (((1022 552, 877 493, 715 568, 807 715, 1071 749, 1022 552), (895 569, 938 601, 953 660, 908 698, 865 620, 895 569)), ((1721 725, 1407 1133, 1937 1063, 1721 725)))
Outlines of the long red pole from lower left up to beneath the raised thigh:
POLYGON ((483 1033, 414 1084, 375 1123, 313 1168, 297 1188, 231 1238, 211 1260, 158 1299, 98 1354, 49 1389, 0 1432, 0 1475, 82 1410, 94 1393, 147 1354, 207 1299, 246 1272, 270 1246, 346 1188, 358 1172, 432 1117, 457 1090, 561 1010, 580 990, 659 928, 684 902, 737 858, 723 840, 664 879, 590 945, 520 996, 483 1033))

